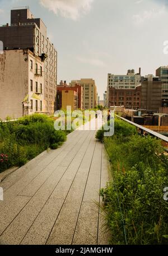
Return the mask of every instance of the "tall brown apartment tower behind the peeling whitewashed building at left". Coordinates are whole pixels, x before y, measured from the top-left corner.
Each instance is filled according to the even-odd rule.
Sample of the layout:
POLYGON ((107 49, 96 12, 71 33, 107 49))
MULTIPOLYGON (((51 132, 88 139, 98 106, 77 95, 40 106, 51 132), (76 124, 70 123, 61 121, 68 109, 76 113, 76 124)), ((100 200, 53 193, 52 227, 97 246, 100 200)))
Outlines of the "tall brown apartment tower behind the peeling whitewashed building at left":
MULTIPOLYGON (((3 50, 29 49, 34 56, 46 58, 44 62, 44 110, 53 114, 57 93, 57 51, 47 36, 47 28, 41 19, 36 19, 29 8, 11 10, 11 26, 0 27, 3 50)), ((18 76, 21 76, 18 72, 18 76)), ((29 81, 30 82, 30 81, 29 81)))

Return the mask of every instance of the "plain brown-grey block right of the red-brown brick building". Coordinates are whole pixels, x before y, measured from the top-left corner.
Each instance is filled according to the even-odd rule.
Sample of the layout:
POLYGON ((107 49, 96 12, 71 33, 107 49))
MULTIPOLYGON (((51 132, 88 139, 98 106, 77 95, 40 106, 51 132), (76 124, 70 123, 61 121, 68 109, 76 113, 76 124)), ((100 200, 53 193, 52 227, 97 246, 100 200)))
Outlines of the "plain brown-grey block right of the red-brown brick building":
POLYGON ((141 109, 158 112, 162 104, 162 81, 160 77, 142 77, 141 109))

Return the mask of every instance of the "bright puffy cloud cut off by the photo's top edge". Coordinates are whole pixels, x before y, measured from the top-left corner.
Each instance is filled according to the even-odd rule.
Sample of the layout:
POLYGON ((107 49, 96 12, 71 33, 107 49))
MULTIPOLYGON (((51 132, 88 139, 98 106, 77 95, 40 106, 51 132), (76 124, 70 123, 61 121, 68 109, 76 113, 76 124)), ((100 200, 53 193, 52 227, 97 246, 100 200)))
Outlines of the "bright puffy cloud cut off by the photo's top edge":
POLYGON ((39 0, 41 5, 63 17, 77 20, 81 14, 87 14, 94 0, 39 0))

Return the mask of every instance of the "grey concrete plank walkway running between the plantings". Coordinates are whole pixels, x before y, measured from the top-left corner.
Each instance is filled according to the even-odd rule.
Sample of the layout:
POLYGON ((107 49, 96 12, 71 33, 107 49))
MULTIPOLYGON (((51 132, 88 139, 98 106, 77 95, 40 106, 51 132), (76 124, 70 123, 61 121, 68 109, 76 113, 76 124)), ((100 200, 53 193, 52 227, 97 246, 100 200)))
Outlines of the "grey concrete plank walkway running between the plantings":
POLYGON ((0 186, 0 244, 108 244, 99 189, 108 160, 96 131, 74 131, 0 186))

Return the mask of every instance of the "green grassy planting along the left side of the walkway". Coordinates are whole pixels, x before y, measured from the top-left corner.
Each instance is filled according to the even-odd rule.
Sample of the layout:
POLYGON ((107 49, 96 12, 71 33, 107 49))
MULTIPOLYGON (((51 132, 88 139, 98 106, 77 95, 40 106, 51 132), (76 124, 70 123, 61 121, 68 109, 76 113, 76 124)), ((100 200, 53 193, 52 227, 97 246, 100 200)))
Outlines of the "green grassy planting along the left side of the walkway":
POLYGON ((57 149, 64 141, 66 132, 55 131, 54 119, 46 115, 34 114, 16 122, 0 122, 0 172, 20 167, 49 147, 57 149))

